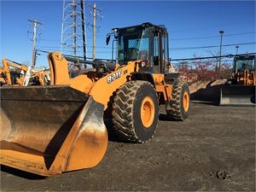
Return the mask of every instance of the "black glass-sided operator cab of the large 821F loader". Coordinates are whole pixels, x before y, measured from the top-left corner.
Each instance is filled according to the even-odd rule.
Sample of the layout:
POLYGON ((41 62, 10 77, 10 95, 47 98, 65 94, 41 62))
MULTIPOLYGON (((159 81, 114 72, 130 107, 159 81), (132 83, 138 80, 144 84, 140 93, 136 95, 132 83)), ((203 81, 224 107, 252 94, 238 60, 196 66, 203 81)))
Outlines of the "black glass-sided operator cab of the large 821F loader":
POLYGON ((113 28, 106 43, 113 35, 117 42, 116 60, 119 65, 129 61, 144 61, 144 71, 164 73, 169 64, 168 33, 165 26, 143 23, 139 26, 113 28))

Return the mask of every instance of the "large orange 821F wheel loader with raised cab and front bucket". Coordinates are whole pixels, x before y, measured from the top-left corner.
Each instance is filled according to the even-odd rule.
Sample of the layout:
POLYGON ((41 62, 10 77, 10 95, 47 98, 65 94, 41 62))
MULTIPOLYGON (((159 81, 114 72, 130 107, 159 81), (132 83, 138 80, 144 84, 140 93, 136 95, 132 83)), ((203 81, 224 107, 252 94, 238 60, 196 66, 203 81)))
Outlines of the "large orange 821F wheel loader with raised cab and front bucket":
POLYGON ((70 78, 67 60, 52 52, 50 85, 1 88, 1 164, 42 176, 89 168, 107 149, 103 116, 131 143, 154 136, 160 105, 170 119, 188 118, 189 88, 170 70, 166 27, 114 28, 107 43, 111 36, 115 62, 88 62, 88 71, 70 78))

